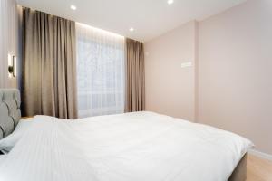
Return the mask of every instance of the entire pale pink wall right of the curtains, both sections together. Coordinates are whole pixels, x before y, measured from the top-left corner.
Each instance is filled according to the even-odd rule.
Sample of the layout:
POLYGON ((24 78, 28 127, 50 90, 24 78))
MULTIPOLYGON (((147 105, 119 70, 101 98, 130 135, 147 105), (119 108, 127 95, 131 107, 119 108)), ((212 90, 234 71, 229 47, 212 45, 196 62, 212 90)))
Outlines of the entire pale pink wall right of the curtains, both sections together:
POLYGON ((272 154, 271 20, 271 0, 248 0, 145 43, 147 110, 189 120, 195 114, 272 154), (181 69, 189 60, 195 66, 181 69))

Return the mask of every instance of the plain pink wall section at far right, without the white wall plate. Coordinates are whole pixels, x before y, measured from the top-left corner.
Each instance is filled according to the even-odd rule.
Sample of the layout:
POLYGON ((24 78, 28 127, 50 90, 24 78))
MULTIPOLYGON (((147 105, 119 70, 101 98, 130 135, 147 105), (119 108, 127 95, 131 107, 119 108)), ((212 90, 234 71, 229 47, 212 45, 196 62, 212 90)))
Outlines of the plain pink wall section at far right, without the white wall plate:
POLYGON ((199 122, 272 154, 272 1, 248 0, 199 23, 199 122))

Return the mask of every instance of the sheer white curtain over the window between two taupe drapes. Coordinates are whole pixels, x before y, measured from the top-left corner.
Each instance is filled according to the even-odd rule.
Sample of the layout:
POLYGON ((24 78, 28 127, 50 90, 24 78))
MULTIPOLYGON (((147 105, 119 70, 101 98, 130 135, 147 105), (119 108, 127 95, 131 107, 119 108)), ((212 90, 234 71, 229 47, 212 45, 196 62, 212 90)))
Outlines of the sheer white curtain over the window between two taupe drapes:
POLYGON ((76 24, 79 117, 124 112, 124 37, 76 24))

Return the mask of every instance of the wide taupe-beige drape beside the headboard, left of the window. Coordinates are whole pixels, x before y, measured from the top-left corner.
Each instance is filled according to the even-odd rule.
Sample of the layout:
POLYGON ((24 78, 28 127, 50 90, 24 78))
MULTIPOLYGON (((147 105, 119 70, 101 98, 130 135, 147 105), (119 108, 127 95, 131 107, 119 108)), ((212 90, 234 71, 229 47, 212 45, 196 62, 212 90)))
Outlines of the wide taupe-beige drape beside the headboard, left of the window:
POLYGON ((77 118, 75 23, 23 9, 23 113, 77 118))

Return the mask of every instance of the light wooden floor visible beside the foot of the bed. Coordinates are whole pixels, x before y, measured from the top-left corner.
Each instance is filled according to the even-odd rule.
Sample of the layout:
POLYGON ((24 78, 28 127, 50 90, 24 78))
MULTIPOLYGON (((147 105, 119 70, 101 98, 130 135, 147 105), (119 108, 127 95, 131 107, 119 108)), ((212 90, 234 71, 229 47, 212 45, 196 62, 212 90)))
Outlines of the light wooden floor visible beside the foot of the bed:
POLYGON ((272 181, 272 161, 248 154, 247 181, 272 181))

